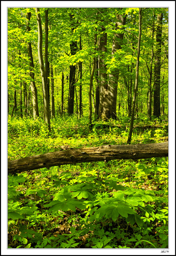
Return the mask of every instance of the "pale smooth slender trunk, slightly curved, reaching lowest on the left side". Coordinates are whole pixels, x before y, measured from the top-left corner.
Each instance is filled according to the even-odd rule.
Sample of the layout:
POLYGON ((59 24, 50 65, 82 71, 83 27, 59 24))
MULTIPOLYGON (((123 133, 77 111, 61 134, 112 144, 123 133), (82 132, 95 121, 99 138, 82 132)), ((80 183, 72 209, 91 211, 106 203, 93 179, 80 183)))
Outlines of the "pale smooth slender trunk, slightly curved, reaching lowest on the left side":
POLYGON ((38 60, 39 60, 39 64, 40 64, 40 71, 41 71, 41 76, 42 76, 42 86, 43 86, 43 92, 44 92, 44 113, 45 113, 45 119, 46 119, 46 123, 48 125, 48 129, 51 132, 47 81, 46 81, 46 76, 45 76, 44 60, 43 60, 43 55, 42 55, 43 35, 42 35, 42 23, 41 23, 39 8, 36 8, 36 13, 37 13, 37 26, 38 26, 38 47, 37 47, 37 49, 38 49, 38 60))

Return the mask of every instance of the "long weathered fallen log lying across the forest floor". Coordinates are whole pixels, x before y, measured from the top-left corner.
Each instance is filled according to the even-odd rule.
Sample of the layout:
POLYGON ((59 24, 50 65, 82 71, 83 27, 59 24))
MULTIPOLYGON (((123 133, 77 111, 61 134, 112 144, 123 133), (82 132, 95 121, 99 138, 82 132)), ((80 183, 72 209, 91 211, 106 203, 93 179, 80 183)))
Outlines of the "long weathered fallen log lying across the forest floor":
POLYGON ((19 173, 56 165, 113 159, 144 159, 168 156, 168 142, 135 145, 105 145, 93 148, 71 148, 8 161, 8 173, 19 173))

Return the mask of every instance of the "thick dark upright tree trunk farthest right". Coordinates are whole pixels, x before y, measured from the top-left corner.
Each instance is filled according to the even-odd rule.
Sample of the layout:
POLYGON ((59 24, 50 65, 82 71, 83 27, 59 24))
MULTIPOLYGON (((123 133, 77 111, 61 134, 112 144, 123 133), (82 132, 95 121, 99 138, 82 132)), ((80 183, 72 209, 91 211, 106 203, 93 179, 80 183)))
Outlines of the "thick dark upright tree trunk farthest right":
POLYGON ((162 20, 163 13, 157 15, 156 27, 156 57, 154 64, 154 95, 153 95, 153 114, 156 117, 161 116, 160 109, 160 73, 161 73, 161 41, 162 41, 162 20))

